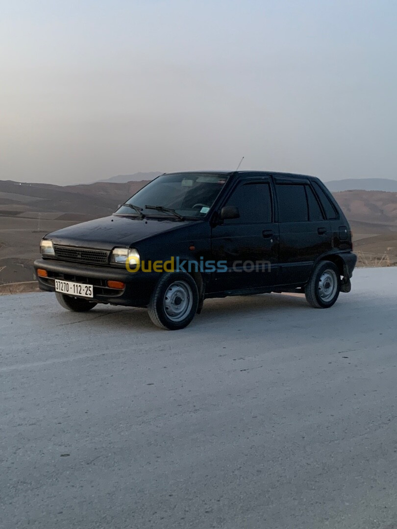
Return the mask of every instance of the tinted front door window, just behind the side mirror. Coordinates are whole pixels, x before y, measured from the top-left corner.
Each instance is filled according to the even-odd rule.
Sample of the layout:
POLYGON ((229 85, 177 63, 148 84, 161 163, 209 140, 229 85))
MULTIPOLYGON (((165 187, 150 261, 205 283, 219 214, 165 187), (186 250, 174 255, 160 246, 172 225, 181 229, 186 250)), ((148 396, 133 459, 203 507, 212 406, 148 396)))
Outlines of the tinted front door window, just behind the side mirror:
POLYGON ((225 206, 237 206, 240 218, 225 220, 227 224, 258 224, 272 222, 272 199, 268 183, 240 185, 225 206))

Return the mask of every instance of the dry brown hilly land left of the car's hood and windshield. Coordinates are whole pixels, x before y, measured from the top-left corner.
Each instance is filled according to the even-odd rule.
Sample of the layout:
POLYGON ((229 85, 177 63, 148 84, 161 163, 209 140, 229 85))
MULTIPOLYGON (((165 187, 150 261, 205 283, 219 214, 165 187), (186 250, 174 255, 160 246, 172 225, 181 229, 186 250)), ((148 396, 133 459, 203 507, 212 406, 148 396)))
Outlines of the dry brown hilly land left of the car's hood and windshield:
POLYGON ((0 284, 33 279, 32 262, 46 233, 109 215, 146 183, 61 187, 0 181, 0 284))

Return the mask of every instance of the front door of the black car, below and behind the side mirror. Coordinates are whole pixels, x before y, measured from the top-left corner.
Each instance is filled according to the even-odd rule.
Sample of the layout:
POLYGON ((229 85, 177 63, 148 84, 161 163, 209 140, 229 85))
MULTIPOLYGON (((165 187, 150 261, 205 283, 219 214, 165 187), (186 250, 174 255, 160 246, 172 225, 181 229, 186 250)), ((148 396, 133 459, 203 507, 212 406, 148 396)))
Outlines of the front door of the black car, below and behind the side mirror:
POLYGON ((224 270, 213 273, 212 291, 245 290, 273 285, 278 256, 269 178, 240 180, 222 206, 237 206, 240 217, 212 227, 211 249, 224 270))

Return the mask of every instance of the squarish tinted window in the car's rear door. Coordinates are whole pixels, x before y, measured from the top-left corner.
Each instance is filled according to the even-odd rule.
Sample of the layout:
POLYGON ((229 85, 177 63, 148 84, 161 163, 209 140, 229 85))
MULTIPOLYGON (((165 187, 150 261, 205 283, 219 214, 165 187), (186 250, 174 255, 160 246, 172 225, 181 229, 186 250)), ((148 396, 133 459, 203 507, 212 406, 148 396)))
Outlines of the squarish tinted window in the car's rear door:
POLYGON ((278 222, 304 222, 309 218, 304 185, 277 184, 278 222))

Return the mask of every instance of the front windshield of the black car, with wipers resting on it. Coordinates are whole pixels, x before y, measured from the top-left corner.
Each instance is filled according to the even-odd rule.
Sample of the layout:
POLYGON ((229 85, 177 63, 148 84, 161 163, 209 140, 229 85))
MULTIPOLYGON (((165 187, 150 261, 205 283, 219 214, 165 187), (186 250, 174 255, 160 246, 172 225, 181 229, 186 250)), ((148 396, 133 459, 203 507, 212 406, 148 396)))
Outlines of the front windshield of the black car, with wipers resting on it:
POLYGON ((211 173, 162 175, 121 205, 116 215, 202 218, 227 179, 228 175, 211 173))

